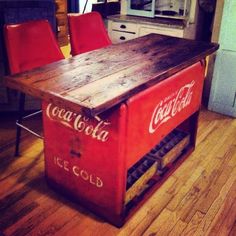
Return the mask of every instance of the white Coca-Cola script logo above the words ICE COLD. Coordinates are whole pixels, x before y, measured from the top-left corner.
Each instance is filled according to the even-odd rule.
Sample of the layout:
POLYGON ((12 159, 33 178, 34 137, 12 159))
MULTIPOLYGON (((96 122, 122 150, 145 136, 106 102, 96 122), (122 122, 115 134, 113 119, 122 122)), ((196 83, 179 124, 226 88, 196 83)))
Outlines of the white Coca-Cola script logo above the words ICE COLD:
POLYGON ((46 115, 48 118, 60 121, 63 125, 75 129, 91 138, 98 141, 105 142, 108 140, 109 131, 106 130, 110 122, 95 118, 93 121, 84 115, 54 106, 52 103, 48 104, 46 108, 46 115))

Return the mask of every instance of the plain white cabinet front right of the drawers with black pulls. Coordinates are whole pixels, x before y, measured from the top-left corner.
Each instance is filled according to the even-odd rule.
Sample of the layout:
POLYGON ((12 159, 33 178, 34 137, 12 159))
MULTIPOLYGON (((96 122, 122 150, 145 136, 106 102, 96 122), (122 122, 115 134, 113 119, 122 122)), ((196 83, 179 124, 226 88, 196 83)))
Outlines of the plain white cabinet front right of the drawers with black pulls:
POLYGON ((147 34, 156 33, 156 34, 163 34, 168 36, 174 36, 183 38, 184 31, 182 29, 172 29, 172 28, 164 28, 164 27, 148 27, 148 26, 141 26, 139 29, 139 36, 144 36, 147 34))

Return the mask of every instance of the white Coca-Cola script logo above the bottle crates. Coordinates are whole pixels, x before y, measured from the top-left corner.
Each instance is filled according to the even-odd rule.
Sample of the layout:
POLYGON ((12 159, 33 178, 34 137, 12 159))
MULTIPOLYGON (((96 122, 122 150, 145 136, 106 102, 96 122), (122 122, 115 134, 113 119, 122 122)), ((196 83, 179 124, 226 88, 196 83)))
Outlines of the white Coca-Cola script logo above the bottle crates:
POLYGON ((160 125, 167 122, 191 103, 194 84, 193 80, 157 104, 149 124, 149 133, 154 133, 160 125))

